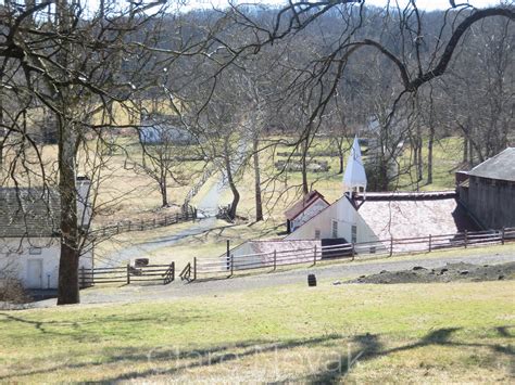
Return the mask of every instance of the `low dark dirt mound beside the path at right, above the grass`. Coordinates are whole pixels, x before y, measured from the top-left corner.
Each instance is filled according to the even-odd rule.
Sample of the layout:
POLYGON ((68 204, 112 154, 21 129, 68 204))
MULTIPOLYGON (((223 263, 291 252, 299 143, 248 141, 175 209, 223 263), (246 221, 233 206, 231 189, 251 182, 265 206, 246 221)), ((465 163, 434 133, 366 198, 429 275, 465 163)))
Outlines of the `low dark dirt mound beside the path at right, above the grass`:
POLYGON ((431 283, 455 281, 499 281, 515 279, 515 262, 502 265, 447 264, 437 269, 415 266, 411 270, 387 271, 379 274, 362 275, 349 283, 431 283))

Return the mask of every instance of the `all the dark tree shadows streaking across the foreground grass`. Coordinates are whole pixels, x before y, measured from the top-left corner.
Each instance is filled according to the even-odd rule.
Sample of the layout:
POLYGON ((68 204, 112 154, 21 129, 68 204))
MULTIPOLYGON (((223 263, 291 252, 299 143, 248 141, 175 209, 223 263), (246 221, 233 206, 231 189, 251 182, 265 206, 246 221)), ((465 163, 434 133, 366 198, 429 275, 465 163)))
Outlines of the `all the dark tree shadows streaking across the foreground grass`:
MULTIPOLYGON (((503 338, 513 338, 514 335, 510 332, 512 326, 498 326, 495 333, 503 338)), ((111 383, 124 380, 145 380, 155 375, 171 376, 179 375, 187 371, 219 365, 229 362, 238 362, 243 358, 253 357, 267 352, 288 351, 299 347, 316 347, 326 344, 332 344, 344 339, 349 342, 349 346, 356 345, 352 351, 341 351, 338 360, 327 362, 317 373, 298 378, 288 378, 287 382, 303 382, 317 384, 332 384, 344 380, 356 362, 370 361, 376 358, 385 357, 394 352, 416 349, 426 346, 454 346, 454 347, 482 347, 488 348, 493 352, 515 356, 515 349, 511 345, 500 344, 480 344, 480 343, 462 343, 451 341, 452 335, 459 331, 459 328, 438 329, 429 332, 418 342, 407 344, 394 348, 385 347, 380 339, 380 335, 362 334, 349 338, 340 334, 329 334, 313 338, 290 339, 284 343, 272 343, 269 341, 246 341, 238 344, 222 344, 209 348, 200 349, 179 349, 174 347, 161 346, 158 348, 146 349, 141 347, 128 348, 113 348, 113 351, 99 351, 99 355, 104 357, 99 362, 78 363, 60 363, 51 368, 39 370, 29 370, 26 372, 16 372, 0 376, 0 381, 9 381, 10 378, 20 378, 23 376, 38 375, 45 373, 52 373, 54 371, 80 370, 83 368, 95 368, 102 370, 103 365, 123 362, 125 368, 134 368, 124 373, 104 377, 101 381, 111 383), (147 363, 147 369, 136 368, 147 363)), ((163 342, 164 344, 166 342, 163 342)), ((173 344, 173 342, 171 342, 173 344)), ((280 359, 277 356, 276 359, 280 359)), ((118 369, 120 370, 120 369, 118 369)), ((122 369, 123 370, 123 369, 122 369)))

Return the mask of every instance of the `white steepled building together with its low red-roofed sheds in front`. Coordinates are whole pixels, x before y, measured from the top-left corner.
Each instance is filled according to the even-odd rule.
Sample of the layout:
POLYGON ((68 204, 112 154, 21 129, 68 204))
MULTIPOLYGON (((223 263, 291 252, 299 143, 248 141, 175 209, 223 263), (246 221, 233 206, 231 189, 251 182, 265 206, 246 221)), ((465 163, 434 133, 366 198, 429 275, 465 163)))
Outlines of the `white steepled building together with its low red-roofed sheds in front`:
MULTIPOLYGON (((331 205, 313 192, 286 213, 290 233, 282 240, 251 241, 234 248, 235 266, 241 257, 255 265, 268 264, 274 252, 301 251, 311 245, 318 258, 331 258, 342 244, 361 245, 370 253, 390 248, 391 239, 456 234, 480 227, 457 203, 455 191, 367 193, 367 179, 357 138, 354 139, 343 175, 343 195, 331 205), (311 203, 310 203, 311 202, 311 203), (317 203, 317 204, 315 204, 317 203), (299 218, 299 219, 298 219, 299 218), (373 252, 374 249, 374 252, 373 252)), ((323 196, 322 196, 323 198, 323 196)), ((395 245, 394 252, 413 251, 410 243, 395 245)), ((313 253, 311 253, 313 255, 313 253)), ((347 255, 347 254, 344 254, 347 255)), ((293 258, 293 257, 292 257, 293 258)))

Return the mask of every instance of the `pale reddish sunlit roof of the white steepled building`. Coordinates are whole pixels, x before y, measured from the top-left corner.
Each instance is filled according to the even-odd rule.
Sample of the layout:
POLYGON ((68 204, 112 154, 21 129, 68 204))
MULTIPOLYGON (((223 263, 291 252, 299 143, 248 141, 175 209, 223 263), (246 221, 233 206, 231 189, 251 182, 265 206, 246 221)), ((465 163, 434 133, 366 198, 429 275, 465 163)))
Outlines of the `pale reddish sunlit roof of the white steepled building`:
POLYGON ((380 240, 480 230, 450 191, 368 193, 359 213, 380 240))

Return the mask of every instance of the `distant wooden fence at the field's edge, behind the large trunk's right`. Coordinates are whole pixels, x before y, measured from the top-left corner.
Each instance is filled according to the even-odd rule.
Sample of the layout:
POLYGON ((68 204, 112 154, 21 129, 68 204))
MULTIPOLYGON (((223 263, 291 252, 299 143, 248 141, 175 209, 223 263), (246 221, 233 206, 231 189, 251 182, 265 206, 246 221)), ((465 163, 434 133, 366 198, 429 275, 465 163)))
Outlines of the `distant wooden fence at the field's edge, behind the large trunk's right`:
POLYGON ((162 218, 147 220, 124 220, 117 223, 108 224, 103 228, 93 229, 89 232, 93 238, 110 238, 128 231, 145 231, 155 228, 162 228, 176 223, 184 223, 198 219, 197 208, 186 206, 181 213, 176 213, 162 218))

